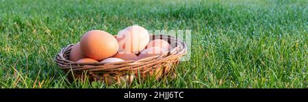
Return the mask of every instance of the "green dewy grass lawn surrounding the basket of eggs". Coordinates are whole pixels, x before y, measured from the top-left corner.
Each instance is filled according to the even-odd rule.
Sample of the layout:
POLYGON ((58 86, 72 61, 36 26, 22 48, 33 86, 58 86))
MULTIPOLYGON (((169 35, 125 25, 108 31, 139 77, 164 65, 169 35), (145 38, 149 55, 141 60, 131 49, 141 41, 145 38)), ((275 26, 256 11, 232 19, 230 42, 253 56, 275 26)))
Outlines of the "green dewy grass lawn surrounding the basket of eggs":
POLYGON ((0 0, 0 88, 308 88, 308 1, 0 0), (192 30, 177 78, 69 83, 61 48, 91 29, 192 30))

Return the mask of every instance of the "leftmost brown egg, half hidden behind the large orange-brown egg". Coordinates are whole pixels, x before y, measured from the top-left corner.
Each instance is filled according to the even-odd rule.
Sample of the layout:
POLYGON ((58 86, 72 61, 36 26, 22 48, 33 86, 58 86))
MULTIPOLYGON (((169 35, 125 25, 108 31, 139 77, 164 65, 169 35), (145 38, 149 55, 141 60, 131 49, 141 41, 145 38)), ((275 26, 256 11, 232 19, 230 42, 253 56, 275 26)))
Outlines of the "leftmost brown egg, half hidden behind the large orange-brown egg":
POLYGON ((79 42, 77 44, 75 44, 72 48, 72 50, 70 50, 70 61, 78 61, 81 58, 85 58, 86 56, 84 56, 84 54, 82 54, 80 46, 79 46, 79 42))

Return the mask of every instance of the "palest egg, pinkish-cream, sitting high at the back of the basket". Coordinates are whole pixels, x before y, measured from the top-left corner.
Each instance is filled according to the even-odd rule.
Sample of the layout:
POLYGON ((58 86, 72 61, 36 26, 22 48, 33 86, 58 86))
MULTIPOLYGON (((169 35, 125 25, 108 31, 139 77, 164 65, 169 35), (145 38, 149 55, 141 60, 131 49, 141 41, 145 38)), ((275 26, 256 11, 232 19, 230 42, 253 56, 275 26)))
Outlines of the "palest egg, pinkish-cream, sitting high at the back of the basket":
POLYGON ((140 26, 131 26, 118 32, 117 40, 119 51, 128 51, 133 54, 141 52, 150 41, 149 32, 140 26))

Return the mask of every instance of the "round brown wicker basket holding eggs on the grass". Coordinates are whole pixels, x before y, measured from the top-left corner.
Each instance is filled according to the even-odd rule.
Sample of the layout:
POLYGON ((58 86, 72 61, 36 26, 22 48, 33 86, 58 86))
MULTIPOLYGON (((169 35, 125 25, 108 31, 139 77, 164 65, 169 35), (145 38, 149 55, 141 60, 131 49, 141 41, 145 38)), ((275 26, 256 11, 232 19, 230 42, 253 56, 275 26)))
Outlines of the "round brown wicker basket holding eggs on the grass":
MULTIPOLYGON (((116 36, 115 36, 116 37, 116 36)), ((154 75, 158 80, 168 73, 175 75, 179 58, 186 54, 186 45, 183 41, 169 35, 150 35, 150 40, 164 39, 168 41, 171 50, 159 56, 142 58, 138 61, 123 61, 116 63, 76 63, 69 61, 70 50, 74 44, 70 44, 57 54, 55 62, 68 75, 68 79, 88 76, 90 81, 103 80, 106 84, 127 83, 131 84, 134 78, 146 78, 154 75)))

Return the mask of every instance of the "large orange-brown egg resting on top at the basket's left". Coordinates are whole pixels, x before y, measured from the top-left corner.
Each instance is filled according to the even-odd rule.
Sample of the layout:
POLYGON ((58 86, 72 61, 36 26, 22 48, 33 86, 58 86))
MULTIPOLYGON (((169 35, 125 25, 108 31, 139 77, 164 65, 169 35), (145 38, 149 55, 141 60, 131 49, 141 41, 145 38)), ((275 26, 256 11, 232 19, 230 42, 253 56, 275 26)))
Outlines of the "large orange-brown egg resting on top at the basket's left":
POLYGON ((85 56, 101 61, 118 52, 118 41, 110 33, 93 30, 81 37, 80 48, 85 56))

